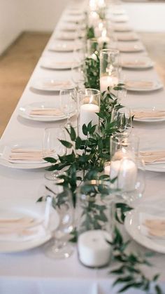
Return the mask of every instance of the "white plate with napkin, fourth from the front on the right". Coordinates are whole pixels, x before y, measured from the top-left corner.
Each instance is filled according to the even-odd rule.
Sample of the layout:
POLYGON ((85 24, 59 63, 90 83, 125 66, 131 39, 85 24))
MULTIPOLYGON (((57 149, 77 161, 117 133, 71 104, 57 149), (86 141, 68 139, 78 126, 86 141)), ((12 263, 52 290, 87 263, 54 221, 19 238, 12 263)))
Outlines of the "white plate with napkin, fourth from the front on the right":
POLYGON ((131 85, 127 85, 127 81, 126 81, 126 88, 127 88, 127 91, 138 91, 138 92, 148 92, 148 91, 156 91, 156 90, 159 90, 161 88, 163 88, 163 85, 162 83, 160 83, 160 81, 129 81, 129 82, 137 82, 137 83, 145 83, 145 82, 151 82, 152 85, 151 86, 147 86, 145 88, 145 86, 131 86, 131 85))

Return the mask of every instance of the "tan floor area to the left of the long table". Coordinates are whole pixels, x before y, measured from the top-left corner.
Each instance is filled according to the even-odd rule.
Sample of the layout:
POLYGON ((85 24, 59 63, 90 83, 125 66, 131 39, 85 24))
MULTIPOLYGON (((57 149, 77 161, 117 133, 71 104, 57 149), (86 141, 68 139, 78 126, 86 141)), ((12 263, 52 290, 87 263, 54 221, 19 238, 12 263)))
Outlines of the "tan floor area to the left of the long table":
POLYGON ((0 136, 50 34, 24 33, 0 58, 0 136))

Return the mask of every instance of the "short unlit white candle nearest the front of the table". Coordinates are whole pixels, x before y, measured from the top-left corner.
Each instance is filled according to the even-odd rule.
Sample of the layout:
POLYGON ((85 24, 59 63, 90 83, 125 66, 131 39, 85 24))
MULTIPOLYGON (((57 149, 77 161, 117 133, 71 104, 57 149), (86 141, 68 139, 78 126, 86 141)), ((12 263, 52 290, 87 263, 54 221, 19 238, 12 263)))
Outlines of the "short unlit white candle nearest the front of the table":
POLYGON ((80 262, 87 267, 103 267, 110 260, 110 235, 101 229, 80 234, 78 253, 80 262))

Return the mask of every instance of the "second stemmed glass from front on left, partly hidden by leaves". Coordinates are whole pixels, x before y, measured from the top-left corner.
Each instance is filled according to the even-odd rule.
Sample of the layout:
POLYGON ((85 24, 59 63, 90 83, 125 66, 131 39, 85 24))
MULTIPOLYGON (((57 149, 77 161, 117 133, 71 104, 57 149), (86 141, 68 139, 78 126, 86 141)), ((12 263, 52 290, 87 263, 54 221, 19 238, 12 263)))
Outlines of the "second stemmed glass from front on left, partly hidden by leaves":
MULTIPOLYGON (((66 140, 63 128, 45 128, 43 135, 43 158, 52 157, 58 159, 58 155, 66 154, 66 147, 59 140, 66 140)), ((47 171, 45 178, 48 180, 58 180, 60 171, 47 171)))

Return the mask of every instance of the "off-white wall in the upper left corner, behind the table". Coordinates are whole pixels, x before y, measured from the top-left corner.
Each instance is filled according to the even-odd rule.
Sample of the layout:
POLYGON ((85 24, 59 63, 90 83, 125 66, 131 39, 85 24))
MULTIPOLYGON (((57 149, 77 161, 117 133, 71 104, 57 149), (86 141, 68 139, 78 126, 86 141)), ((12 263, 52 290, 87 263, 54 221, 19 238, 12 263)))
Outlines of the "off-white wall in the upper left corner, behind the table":
POLYGON ((51 31, 68 0, 0 0, 0 55, 22 31, 51 31))

